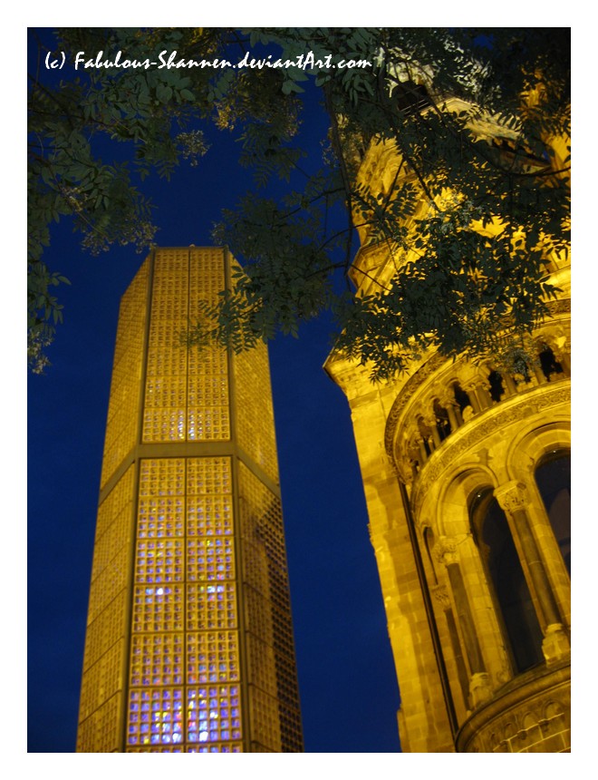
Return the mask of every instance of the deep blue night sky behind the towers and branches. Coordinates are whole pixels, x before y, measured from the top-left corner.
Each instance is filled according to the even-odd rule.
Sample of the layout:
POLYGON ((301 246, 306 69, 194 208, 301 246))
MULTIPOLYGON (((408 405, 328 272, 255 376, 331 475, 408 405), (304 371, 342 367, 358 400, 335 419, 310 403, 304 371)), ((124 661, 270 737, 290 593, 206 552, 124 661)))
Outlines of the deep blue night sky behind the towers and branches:
MULTIPOLYGON (((325 117, 312 99, 313 149, 325 117)), ((152 177, 159 246, 210 244, 220 210, 253 186, 220 135, 197 168, 152 177)), ((64 325, 46 375, 28 377, 28 752, 74 750, 92 544, 118 307, 145 255, 94 258, 65 221, 45 261, 64 325)), ((368 537, 349 406, 324 374, 332 323, 270 346, 295 646, 308 753, 400 750, 399 691, 368 537)))

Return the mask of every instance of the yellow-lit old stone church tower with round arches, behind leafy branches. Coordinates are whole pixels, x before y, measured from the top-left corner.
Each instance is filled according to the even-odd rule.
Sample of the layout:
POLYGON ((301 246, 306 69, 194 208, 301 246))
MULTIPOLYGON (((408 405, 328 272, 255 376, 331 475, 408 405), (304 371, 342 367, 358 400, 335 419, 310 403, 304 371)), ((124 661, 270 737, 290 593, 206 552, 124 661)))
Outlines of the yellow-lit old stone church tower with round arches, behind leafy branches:
MULTIPOLYGON (((357 175, 387 198, 408 174, 389 142, 357 175)), ((367 295, 395 258, 361 230, 367 295)), ((571 286, 569 257, 549 259, 560 293, 520 371, 430 352, 372 385, 338 353, 325 366, 351 407, 404 752, 570 750, 571 286)))

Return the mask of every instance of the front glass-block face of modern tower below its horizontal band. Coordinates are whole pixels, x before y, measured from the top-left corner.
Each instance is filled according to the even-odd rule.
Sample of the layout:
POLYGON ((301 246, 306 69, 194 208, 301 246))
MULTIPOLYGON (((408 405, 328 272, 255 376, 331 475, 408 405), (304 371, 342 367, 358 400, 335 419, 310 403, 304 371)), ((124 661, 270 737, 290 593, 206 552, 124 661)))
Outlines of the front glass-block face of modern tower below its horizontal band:
POLYGON ((240 749, 232 485, 229 457, 140 463, 127 749, 240 749))

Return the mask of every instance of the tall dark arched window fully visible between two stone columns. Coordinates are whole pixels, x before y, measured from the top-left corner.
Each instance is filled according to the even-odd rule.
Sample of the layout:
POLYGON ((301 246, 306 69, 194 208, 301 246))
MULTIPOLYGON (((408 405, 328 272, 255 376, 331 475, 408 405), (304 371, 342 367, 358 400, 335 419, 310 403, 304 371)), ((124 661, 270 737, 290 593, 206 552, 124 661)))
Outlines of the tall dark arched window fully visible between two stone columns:
POLYGON ((541 663, 542 630, 505 512, 488 488, 472 503, 474 538, 494 590, 516 672, 541 663))

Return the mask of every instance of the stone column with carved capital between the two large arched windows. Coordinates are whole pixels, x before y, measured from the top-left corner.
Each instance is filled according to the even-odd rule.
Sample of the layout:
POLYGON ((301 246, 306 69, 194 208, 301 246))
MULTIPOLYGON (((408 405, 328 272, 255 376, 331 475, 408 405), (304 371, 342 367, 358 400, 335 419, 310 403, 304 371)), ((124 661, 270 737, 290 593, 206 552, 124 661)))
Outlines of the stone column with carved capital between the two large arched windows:
POLYGON ((535 593, 541 610, 540 624, 544 624, 542 650, 547 663, 554 662, 571 652, 555 596, 550 587, 544 561, 540 555, 527 513, 529 498, 526 485, 512 480, 497 487, 494 492, 497 502, 509 519, 512 530, 520 542, 521 552, 526 562, 523 567, 530 590, 535 593))

